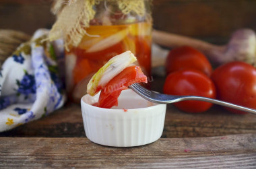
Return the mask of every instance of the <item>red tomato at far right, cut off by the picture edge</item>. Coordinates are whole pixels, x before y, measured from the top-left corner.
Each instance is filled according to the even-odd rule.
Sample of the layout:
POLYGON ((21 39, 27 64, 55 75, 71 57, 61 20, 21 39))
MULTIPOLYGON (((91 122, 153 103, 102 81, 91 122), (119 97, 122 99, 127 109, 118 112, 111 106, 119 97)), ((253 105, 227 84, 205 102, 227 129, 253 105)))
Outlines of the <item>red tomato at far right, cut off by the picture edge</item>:
MULTIPOLYGON (((212 73, 212 80, 220 100, 256 109, 256 69, 252 65, 240 61, 227 63, 212 73)), ((238 114, 246 113, 226 109, 238 114)))

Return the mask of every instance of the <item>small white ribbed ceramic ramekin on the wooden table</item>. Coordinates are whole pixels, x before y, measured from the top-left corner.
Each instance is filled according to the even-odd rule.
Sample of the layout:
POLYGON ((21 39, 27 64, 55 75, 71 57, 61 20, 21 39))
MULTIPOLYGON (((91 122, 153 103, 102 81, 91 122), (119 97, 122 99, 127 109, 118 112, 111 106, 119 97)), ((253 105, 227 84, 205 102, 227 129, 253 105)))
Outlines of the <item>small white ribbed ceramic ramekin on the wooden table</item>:
POLYGON ((164 129, 166 104, 144 100, 132 90, 119 96, 111 109, 92 106, 98 96, 81 99, 86 137, 94 143, 115 147, 145 145, 158 140, 164 129))

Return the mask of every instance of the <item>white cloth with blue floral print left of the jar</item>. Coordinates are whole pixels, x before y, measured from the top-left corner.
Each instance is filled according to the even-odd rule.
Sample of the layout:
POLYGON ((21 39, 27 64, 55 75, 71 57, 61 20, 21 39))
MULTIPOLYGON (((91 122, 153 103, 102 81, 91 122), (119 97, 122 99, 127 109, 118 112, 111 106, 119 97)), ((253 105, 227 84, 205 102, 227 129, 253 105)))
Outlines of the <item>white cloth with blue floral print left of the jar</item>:
POLYGON ((37 30, 1 67, 0 132, 40 119, 65 103, 58 67, 63 41, 42 42, 48 32, 37 30))

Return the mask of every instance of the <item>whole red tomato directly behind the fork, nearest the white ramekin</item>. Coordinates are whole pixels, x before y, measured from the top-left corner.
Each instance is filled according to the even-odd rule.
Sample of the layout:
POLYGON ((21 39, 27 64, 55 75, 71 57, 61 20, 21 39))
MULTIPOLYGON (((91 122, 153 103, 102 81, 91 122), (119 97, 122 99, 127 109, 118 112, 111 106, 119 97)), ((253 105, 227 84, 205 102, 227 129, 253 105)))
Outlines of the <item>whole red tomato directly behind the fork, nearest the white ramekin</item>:
MULTIPOLYGON (((164 83, 164 94, 216 98, 212 80, 201 71, 193 69, 170 73, 164 83)), ((186 112, 204 112, 212 106, 212 103, 187 100, 174 105, 186 112)))

